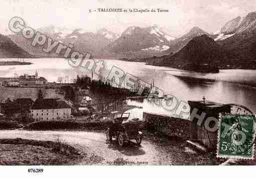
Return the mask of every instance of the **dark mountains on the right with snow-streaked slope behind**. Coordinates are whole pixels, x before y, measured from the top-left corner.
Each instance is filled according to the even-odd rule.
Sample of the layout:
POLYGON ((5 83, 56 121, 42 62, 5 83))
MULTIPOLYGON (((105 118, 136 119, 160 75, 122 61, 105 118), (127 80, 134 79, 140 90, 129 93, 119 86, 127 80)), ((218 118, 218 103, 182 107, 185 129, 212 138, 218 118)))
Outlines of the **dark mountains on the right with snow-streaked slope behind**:
MULTIPOLYGON (((256 69, 256 12, 230 20, 215 34, 195 34, 179 51, 172 48, 173 52, 168 55, 144 60, 151 65, 186 70, 204 64, 222 69, 256 69)), ((183 38, 174 41, 174 45, 182 43, 183 38)))

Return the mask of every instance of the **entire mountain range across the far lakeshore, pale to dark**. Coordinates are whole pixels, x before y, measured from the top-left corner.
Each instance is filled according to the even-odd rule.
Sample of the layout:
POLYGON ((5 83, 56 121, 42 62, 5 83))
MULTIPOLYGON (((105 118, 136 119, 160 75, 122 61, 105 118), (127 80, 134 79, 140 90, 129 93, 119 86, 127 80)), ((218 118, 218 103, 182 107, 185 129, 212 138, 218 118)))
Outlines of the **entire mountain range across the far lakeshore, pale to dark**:
MULTIPOLYGON (((75 50, 89 52, 94 57, 132 59, 187 69, 196 63, 210 63, 222 68, 256 68, 256 12, 228 21, 214 34, 193 27, 179 38, 172 37, 156 25, 144 28, 131 26, 121 35, 106 28, 95 33, 54 25, 37 30, 64 44, 71 43, 75 50)), ((15 42, 13 44, 8 37, 3 37, 13 46, 15 50, 11 53, 15 55, 57 56, 42 52, 41 47, 31 47, 31 41, 19 34, 8 36, 15 42)), ((6 48, 5 53, 1 56, 8 56, 6 48)))

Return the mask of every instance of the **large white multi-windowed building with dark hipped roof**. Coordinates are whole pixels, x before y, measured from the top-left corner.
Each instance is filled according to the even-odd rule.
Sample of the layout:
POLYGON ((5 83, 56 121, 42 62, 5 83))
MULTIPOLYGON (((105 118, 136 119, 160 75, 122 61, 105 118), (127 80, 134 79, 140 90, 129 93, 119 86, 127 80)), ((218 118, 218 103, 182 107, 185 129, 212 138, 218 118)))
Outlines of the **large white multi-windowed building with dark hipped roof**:
POLYGON ((30 109, 30 114, 37 121, 69 119, 71 108, 60 99, 37 99, 30 109))

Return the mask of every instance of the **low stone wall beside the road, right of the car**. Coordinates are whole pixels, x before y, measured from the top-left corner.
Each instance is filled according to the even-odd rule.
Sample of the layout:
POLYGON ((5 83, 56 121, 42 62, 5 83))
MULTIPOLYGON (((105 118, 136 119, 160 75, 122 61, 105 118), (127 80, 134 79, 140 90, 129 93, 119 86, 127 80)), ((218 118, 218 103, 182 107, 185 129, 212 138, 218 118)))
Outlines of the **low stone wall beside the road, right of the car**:
POLYGON ((143 113, 146 128, 168 136, 191 139, 191 122, 189 120, 143 113))

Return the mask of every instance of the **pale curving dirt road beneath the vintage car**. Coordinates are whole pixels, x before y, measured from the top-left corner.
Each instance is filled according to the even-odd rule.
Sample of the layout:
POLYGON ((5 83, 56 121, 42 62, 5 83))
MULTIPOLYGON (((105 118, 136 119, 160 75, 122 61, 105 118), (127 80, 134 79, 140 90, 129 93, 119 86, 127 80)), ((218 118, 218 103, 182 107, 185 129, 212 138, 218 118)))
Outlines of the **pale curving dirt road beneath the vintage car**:
POLYGON ((80 132, 80 131, 25 131, 25 130, 2 130, 1 139, 33 139, 42 141, 56 141, 59 138, 88 155, 96 154, 104 160, 101 164, 109 164, 114 161, 126 161, 147 163, 147 165, 158 165, 159 155, 155 146, 147 140, 143 140, 141 146, 130 143, 119 148, 114 144, 106 142, 104 133, 80 132))

